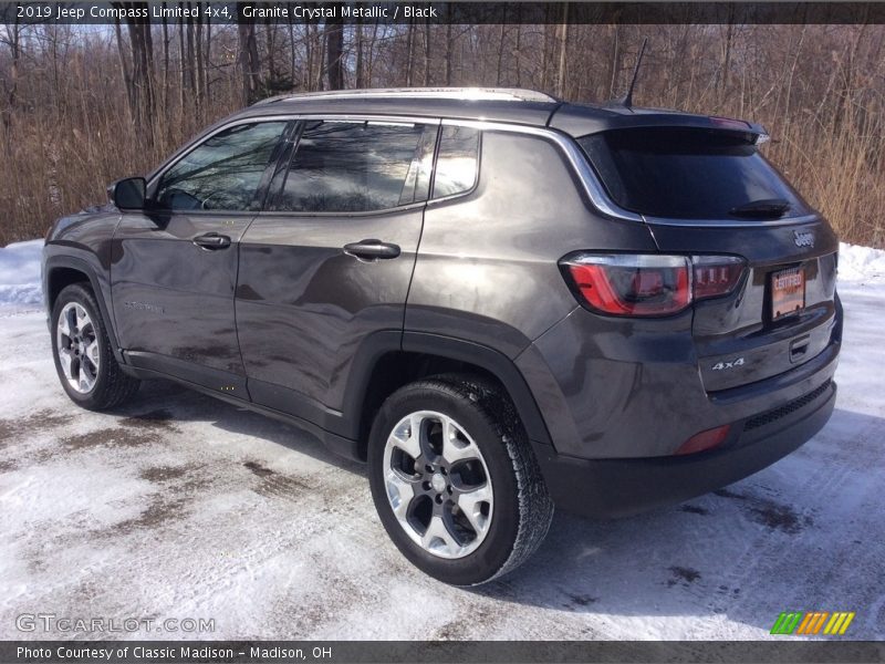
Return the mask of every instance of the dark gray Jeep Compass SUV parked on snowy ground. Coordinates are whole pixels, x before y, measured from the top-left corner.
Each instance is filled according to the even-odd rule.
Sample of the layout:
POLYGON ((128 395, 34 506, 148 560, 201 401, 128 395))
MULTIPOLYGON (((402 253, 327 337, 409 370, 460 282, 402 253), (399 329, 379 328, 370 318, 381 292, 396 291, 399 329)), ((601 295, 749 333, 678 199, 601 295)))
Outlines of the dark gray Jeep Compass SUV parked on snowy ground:
POLYGON ((413 563, 489 581, 554 505, 685 500, 826 423, 837 242, 767 138, 521 90, 261 102, 55 224, 62 386, 169 377, 304 427, 368 463, 413 563))

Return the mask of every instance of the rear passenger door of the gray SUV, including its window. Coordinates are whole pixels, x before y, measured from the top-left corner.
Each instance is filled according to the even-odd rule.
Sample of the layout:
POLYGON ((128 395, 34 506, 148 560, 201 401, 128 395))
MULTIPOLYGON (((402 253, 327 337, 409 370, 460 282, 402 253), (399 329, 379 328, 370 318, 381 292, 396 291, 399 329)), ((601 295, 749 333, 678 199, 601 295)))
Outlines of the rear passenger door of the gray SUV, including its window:
POLYGON ((402 334, 438 123, 303 120, 240 242, 253 401, 335 430, 361 344, 402 334))

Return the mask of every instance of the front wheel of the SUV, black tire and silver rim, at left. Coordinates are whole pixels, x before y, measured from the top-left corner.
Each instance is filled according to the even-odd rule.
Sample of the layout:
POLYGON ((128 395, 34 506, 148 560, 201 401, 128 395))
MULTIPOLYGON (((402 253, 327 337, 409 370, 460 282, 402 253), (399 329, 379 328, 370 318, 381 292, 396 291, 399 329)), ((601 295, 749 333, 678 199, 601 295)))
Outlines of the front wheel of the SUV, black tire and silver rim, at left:
POLYGON ((59 293, 50 325, 55 371, 71 401, 90 411, 122 405, 135 395, 140 384, 123 373, 105 325, 98 302, 87 286, 74 283, 59 293), (65 324, 60 326, 62 317, 65 324))

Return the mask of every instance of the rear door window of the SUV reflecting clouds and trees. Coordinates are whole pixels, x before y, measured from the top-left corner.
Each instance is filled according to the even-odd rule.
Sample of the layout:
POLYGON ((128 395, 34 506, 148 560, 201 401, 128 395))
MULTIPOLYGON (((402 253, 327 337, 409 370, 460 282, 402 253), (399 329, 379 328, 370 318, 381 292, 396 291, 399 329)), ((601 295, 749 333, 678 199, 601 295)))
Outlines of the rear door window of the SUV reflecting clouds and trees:
POLYGON ((310 121, 273 207, 367 212, 424 200, 426 144, 425 125, 310 121))

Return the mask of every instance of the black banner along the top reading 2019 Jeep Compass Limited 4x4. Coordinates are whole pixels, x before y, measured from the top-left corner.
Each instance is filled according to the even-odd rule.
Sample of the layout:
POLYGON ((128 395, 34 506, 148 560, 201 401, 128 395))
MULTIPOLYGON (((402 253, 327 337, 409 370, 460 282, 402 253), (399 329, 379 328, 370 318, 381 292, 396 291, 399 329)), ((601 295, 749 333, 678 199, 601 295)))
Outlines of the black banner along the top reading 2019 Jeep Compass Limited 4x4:
POLYGON ((885 2, 10 2, 3 23, 883 24, 885 2))

